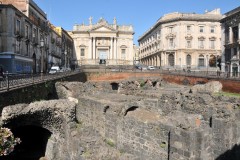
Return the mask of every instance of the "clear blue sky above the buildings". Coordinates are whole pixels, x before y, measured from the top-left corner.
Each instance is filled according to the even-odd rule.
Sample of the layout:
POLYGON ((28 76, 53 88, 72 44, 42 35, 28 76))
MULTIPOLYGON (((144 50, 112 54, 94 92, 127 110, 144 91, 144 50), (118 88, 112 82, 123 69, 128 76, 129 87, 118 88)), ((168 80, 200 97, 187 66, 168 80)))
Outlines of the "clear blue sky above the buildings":
POLYGON ((171 12, 204 13, 220 8, 224 14, 240 6, 240 0, 34 0, 55 26, 70 31, 74 24, 93 23, 100 17, 110 24, 133 25, 134 43, 164 14, 171 12))

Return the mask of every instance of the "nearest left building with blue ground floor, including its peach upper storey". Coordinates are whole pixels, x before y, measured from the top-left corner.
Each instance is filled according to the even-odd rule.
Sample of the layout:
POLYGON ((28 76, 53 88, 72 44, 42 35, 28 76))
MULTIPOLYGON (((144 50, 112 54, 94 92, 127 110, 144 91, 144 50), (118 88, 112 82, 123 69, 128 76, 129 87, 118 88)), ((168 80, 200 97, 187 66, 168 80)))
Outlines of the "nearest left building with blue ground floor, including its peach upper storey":
POLYGON ((46 72, 49 48, 46 14, 32 0, 1 2, 0 65, 4 71, 13 73, 46 72))

